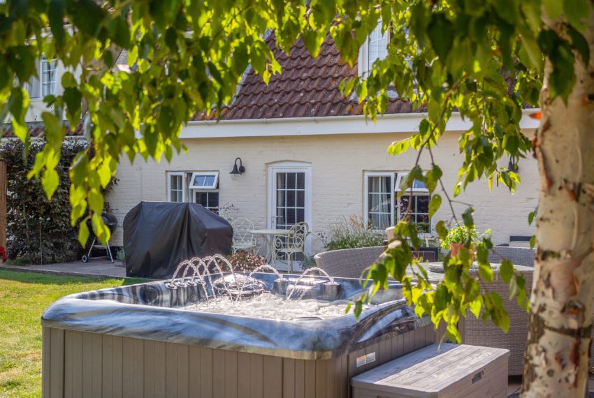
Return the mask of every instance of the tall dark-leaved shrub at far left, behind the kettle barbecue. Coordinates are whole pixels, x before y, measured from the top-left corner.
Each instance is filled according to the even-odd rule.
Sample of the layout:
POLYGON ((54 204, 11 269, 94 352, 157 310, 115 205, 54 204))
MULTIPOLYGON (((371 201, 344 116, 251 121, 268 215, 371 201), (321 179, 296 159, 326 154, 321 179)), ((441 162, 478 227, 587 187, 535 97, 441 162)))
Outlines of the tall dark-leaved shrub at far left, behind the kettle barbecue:
MULTIPOLYGON (((41 140, 31 142, 28 151, 17 140, 0 146, 0 160, 6 162, 7 168, 8 257, 33 264, 77 260, 83 249, 78 243, 78 228, 73 228, 70 223, 68 168, 78 152, 88 149, 88 143, 83 140, 64 142, 56 168, 59 186, 52 200, 45 196, 41 181, 27 178, 35 154, 42 147, 41 140)), ((110 186, 112 184, 108 189, 110 186)))

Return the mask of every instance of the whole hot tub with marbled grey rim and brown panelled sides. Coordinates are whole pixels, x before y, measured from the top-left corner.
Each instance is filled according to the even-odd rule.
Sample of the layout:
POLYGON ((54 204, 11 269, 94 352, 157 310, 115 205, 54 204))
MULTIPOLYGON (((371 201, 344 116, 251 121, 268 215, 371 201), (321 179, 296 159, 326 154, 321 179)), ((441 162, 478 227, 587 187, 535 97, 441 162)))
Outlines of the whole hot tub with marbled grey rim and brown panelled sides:
POLYGON ((229 288, 226 304, 205 300, 222 295, 217 286, 236 278, 230 274, 58 300, 41 319, 43 397, 349 397, 352 376, 436 341, 430 320, 414 316, 397 283, 380 290, 357 321, 331 307, 363 293, 357 279, 251 277, 261 289, 229 288), (263 294, 285 297, 296 285, 291 302, 271 305, 284 319, 258 302, 245 313, 224 309, 266 302, 263 294), (321 310, 284 311, 299 306, 298 295, 321 310))

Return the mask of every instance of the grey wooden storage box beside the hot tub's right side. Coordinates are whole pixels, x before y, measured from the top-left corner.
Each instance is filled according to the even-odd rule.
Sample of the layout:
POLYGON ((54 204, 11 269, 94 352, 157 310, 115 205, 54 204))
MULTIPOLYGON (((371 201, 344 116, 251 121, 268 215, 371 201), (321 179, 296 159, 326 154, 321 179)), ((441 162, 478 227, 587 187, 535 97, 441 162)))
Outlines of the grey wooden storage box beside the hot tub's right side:
POLYGON ((432 344, 351 379, 354 398, 507 397, 502 348, 432 344))

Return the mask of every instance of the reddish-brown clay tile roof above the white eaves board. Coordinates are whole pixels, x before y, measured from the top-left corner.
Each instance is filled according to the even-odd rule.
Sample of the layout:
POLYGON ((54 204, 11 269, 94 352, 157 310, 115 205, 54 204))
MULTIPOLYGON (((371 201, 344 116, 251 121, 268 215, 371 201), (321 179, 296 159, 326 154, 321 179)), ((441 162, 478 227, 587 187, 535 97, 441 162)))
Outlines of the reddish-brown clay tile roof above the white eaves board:
MULTIPOLYGON (((280 117, 324 117, 363 115, 356 101, 340 93, 339 84, 357 75, 340 59, 328 35, 317 59, 307 52, 303 40, 295 42, 289 54, 275 46, 274 35, 266 40, 282 67, 280 75, 270 78, 268 86, 254 71, 249 71, 231 105, 223 108, 220 119, 273 119, 280 117)), ((387 113, 414 112, 410 103, 399 98, 389 101, 387 113)), ((217 119, 216 112, 202 112, 194 120, 217 119)))

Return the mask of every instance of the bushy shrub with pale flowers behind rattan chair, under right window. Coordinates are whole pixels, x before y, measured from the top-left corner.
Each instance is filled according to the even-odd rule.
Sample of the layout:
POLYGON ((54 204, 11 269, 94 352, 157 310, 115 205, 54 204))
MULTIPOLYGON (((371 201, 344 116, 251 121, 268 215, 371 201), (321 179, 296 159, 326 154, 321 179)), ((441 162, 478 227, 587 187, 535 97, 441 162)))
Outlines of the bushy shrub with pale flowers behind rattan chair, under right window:
POLYGON ((382 246, 386 239, 384 231, 365 226, 361 217, 352 216, 331 223, 322 236, 326 250, 356 249, 357 247, 382 246))

